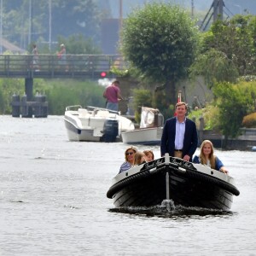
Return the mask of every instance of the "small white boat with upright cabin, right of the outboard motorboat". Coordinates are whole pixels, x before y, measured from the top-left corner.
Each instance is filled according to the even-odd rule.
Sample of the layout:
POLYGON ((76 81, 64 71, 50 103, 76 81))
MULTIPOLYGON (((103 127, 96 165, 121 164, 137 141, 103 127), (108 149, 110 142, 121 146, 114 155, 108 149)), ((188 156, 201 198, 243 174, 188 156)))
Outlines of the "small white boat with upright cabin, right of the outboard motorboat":
POLYGON ((163 125, 164 117, 158 109, 143 107, 140 127, 122 132, 122 141, 127 144, 160 144, 163 125))

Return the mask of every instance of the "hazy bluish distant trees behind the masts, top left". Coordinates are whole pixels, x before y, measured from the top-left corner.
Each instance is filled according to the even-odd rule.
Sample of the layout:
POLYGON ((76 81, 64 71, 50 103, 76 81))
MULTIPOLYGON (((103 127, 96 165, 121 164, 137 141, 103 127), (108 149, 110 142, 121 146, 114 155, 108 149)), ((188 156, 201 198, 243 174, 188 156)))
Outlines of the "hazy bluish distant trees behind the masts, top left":
MULTIPOLYGON (((39 52, 42 52, 41 46, 44 49, 45 41, 49 41, 49 1, 3 1, 3 35, 10 42, 28 49, 30 2, 32 3, 32 42, 42 42, 38 44, 39 52)), ((73 34, 83 34, 86 38, 93 38, 96 44, 99 43, 101 20, 105 15, 95 0, 51 0, 50 2, 52 42, 56 41, 58 35, 67 38, 73 34)))

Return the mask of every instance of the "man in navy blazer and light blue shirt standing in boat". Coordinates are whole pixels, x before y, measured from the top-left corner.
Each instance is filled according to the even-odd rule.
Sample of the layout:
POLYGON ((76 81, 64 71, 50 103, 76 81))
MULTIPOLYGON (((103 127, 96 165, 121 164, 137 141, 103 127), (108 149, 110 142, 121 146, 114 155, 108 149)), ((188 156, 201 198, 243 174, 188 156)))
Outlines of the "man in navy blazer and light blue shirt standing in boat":
POLYGON ((167 119, 161 137, 160 153, 192 161, 198 144, 195 122, 187 119, 187 105, 178 102, 175 106, 177 116, 167 119))

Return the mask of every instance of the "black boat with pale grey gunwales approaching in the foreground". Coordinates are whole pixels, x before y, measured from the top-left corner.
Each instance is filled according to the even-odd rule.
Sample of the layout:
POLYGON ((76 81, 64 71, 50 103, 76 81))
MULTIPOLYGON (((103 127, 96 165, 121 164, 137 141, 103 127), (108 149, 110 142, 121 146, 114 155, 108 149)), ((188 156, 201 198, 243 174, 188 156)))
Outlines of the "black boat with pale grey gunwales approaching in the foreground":
POLYGON ((175 206, 229 211, 233 195, 239 194, 233 177, 166 154, 113 177, 107 197, 115 207, 153 207, 172 200, 175 206))

